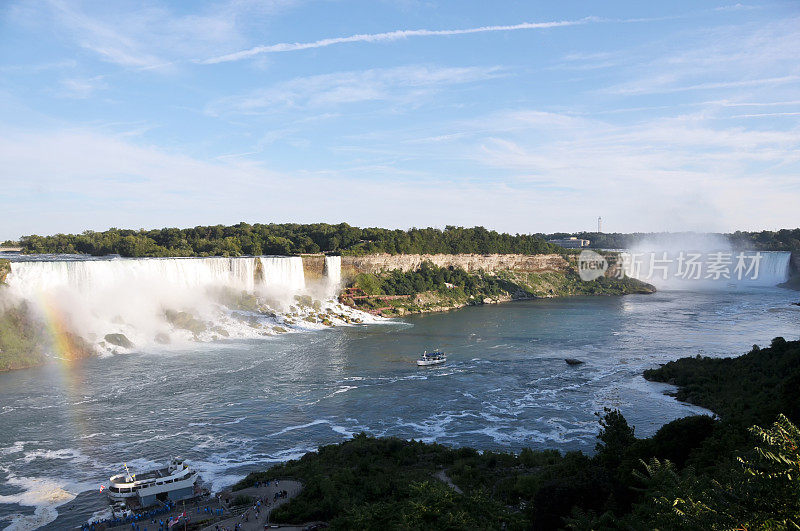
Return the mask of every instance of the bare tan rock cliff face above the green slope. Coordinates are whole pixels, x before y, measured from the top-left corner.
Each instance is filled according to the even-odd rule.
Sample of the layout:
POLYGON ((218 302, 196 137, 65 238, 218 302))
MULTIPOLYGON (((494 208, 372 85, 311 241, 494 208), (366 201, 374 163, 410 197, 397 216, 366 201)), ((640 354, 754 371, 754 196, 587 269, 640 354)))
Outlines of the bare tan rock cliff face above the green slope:
POLYGON ((343 256, 342 276, 353 278, 359 273, 379 274, 395 269, 413 271, 426 261, 439 267, 457 267, 470 273, 496 273, 506 270, 542 273, 566 271, 570 265, 558 254, 371 254, 343 256))

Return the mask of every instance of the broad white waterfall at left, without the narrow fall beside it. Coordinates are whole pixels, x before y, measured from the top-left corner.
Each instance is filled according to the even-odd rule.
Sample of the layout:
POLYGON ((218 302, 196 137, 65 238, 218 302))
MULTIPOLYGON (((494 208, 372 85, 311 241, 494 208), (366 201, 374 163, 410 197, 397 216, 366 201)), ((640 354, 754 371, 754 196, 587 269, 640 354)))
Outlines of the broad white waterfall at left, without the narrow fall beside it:
POLYGON ((223 337, 263 335, 243 312, 279 311, 305 289, 302 259, 285 256, 13 261, 6 282, 10 300, 27 301, 43 322, 56 319, 100 344, 124 334, 137 346, 198 329, 204 338, 221 329, 223 337), (186 315, 176 322, 178 312, 193 324, 186 315))

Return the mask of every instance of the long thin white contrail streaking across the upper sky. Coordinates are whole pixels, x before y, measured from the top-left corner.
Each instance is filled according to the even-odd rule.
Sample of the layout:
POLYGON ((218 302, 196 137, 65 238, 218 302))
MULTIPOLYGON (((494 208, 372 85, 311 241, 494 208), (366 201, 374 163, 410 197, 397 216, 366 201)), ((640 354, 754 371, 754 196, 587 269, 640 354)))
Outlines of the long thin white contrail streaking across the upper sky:
POLYGON ((578 26, 588 24, 590 22, 597 22, 600 19, 597 17, 585 17, 578 20, 561 20, 552 22, 523 22, 521 24, 511 24, 507 26, 481 26, 477 28, 464 28, 464 29, 447 29, 447 30, 396 30, 384 33, 360 33, 350 35, 347 37, 333 37, 329 39, 320 39, 311 42, 282 42, 278 44, 270 44, 265 46, 256 46, 240 52, 234 52, 226 55, 212 57, 204 61, 203 64, 226 63, 230 61, 240 61, 250 57, 261 55, 265 53, 278 53, 278 52, 294 52, 297 50, 308 50, 311 48, 324 48, 326 46, 333 46, 335 44, 345 44, 351 42, 389 42, 401 39, 408 39, 411 37, 436 37, 436 36, 449 36, 449 35, 467 35, 471 33, 486 33, 493 31, 520 31, 520 30, 538 30, 548 28, 561 28, 565 26, 578 26))

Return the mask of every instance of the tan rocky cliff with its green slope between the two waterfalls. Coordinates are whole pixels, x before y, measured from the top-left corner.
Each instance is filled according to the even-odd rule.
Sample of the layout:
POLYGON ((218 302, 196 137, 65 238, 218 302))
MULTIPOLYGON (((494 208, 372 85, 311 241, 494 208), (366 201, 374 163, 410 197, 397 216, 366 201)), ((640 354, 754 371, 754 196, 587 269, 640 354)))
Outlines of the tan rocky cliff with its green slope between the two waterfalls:
POLYGON ((606 258, 610 267, 605 276, 583 281, 577 270, 578 256, 573 254, 344 256, 342 274, 348 287, 339 300, 392 317, 517 299, 655 291, 644 282, 617 278, 617 257, 606 258))

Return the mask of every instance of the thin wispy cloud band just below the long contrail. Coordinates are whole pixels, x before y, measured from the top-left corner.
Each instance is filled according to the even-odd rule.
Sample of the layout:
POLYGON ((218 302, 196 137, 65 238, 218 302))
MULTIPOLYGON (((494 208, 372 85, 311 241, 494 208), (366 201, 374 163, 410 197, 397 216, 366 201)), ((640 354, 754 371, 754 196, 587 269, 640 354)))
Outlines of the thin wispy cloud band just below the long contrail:
POLYGON ((401 66, 291 79, 244 95, 222 98, 206 112, 263 114, 370 101, 419 103, 441 87, 504 75, 500 67, 401 66))

